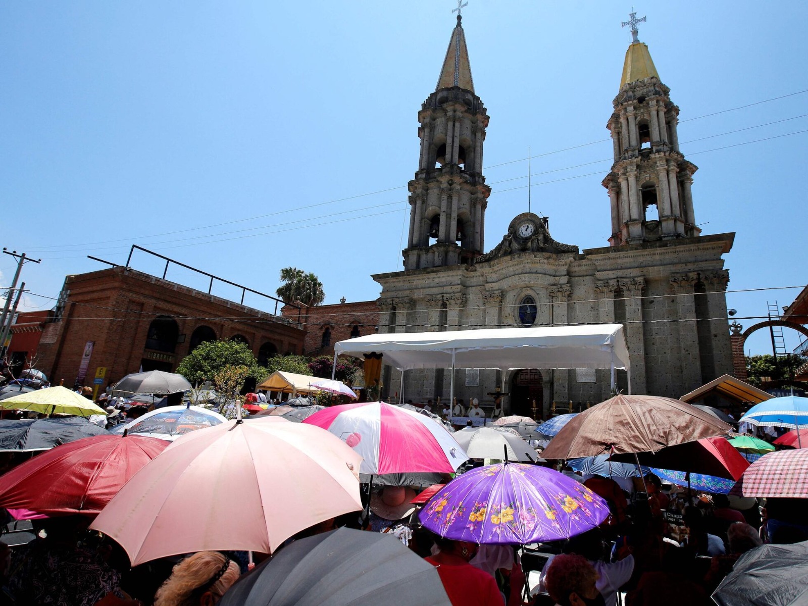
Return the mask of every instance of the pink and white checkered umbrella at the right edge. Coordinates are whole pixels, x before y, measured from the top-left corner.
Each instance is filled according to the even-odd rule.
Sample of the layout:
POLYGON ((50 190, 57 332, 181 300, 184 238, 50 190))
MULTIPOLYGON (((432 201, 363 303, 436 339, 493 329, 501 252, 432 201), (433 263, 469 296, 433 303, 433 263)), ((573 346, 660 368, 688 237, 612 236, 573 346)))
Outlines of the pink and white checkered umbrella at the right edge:
POLYGON ((808 499, 808 449, 769 452, 749 465, 730 494, 808 499))

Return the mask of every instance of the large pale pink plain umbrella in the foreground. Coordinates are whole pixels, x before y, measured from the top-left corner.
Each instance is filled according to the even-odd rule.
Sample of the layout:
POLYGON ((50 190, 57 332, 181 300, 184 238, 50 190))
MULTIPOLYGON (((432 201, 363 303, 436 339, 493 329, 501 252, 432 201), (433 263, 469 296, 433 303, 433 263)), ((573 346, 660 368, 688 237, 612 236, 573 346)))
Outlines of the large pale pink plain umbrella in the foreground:
POLYGON ((133 566, 208 549, 272 553, 309 526, 362 509, 361 461, 318 427, 228 421, 172 443, 91 528, 117 541, 133 566))

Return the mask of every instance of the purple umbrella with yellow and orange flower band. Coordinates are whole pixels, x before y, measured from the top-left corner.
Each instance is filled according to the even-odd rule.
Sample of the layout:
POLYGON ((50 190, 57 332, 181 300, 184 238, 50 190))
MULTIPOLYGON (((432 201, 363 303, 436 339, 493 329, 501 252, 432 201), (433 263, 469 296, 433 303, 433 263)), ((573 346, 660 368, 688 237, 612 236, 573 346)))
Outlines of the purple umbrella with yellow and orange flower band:
POLYGON ((558 471, 500 463, 453 479, 427 502, 419 518, 441 537, 524 545, 574 537, 608 515, 604 499, 558 471))

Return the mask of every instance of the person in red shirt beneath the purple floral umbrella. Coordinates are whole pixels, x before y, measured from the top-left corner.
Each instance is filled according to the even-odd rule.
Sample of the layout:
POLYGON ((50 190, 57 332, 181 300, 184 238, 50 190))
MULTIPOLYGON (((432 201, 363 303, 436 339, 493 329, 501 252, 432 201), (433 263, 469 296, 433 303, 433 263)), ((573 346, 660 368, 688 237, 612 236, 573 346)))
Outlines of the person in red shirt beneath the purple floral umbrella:
POLYGON ((438 569, 440 582, 444 583, 452 606, 505 604, 494 577, 469 564, 477 553, 478 545, 444 537, 436 537, 435 543, 440 551, 424 559, 438 569))

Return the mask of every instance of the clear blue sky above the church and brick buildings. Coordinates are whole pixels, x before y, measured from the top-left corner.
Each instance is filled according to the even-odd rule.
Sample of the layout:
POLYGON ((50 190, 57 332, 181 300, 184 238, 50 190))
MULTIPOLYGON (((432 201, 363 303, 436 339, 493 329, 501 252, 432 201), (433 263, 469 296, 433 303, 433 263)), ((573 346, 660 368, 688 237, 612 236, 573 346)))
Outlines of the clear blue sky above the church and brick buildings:
MULTIPOLYGON (((417 113, 453 6, 0 3, 0 244, 42 258, 23 277, 48 297, 66 274, 103 267, 86 255, 123 263, 134 243, 263 292, 294 265, 321 278, 326 302, 376 298, 370 274, 401 268, 417 113)), ((546 154, 532 160, 532 209, 549 216, 553 238, 607 245, 604 127, 629 8, 471 0, 464 9, 490 115, 486 249, 527 210, 528 146, 546 154)), ((648 18, 640 40, 681 108, 682 151, 700 167, 696 219, 704 234, 737 234, 730 290, 805 284, 808 4, 637 11, 648 18)), ((162 271, 144 255, 132 264, 162 271)), ((0 271, 7 285, 10 257, 0 271)), ((182 271, 168 278, 203 285, 182 271)), ((728 300, 739 317, 760 316, 766 301, 785 305, 797 292, 728 300)), ((53 302, 31 295, 26 305, 53 302)), ((747 347, 767 351, 768 334, 747 347)))

